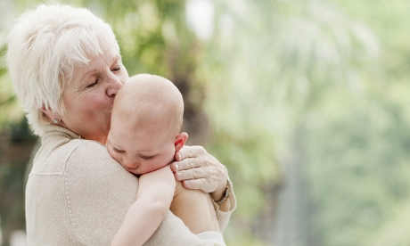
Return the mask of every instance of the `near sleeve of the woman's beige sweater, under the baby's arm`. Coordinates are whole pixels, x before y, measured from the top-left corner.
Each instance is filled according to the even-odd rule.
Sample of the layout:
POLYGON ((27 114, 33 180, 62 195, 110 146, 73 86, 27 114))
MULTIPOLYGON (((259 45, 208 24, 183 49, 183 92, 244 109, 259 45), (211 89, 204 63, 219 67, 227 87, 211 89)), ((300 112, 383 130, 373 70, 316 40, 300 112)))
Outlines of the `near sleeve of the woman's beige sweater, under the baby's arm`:
MULTIPOLYGON (((65 225, 74 242, 110 245, 136 200, 138 179, 113 160, 105 146, 78 144, 64 170, 65 225)), ((171 212, 146 245, 212 245, 189 232, 171 212)))

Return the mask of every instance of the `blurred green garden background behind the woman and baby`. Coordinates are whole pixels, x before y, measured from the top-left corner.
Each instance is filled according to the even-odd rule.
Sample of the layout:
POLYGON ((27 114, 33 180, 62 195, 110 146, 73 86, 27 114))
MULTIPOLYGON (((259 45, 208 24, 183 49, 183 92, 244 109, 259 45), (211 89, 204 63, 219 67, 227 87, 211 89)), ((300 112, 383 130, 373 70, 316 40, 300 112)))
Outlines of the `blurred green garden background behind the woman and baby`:
MULTIPOLYGON (((37 3, 0 0, 5 246, 24 245, 37 144, 5 68, 5 37, 37 3)), ((234 183, 227 245, 409 245, 409 1, 61 3, 112 25, 130 75, 180 88, 189 144, 204 145, 234 183)))

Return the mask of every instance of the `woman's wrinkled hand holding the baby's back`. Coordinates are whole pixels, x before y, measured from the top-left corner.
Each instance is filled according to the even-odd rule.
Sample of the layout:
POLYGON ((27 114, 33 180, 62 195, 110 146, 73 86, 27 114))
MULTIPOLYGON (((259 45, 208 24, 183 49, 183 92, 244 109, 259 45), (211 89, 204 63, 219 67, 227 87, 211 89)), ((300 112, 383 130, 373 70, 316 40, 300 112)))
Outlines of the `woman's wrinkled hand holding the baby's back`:
POLYGON ((176 181, 182 181, 186 189, 198 189, 210 193, 219 201, 225 193, 227 170, 202 146, 184 146, 175 154, 171 164, 176 181))

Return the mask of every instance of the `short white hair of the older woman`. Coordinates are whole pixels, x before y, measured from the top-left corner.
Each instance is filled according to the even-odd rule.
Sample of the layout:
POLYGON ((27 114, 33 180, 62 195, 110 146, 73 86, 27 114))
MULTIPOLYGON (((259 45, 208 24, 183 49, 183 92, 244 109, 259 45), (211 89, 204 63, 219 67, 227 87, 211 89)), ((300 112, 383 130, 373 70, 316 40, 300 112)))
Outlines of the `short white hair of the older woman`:
POLYGON ((41 108, 62 113, 61 100, 74 66, 109 48, 119 52, 111 26, 85 8, 39 4, 18 18, 7 37, 6 61, 35 135, 49 121, 41 108))

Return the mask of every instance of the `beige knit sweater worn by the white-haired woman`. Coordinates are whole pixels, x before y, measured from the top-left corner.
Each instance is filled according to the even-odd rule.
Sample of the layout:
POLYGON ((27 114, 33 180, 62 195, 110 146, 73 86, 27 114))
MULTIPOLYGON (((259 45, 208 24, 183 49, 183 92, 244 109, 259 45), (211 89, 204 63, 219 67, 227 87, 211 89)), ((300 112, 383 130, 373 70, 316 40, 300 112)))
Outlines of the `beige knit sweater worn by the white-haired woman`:
MULTIPOLYGON (((28 245, 110 245, 136 199, 138 180, 113 160, 101 143, 47 127, 26 189, 28 245)), ((217 210, 225 228, 236 201, 217 210)), ((168 212, 146 245, 212 245, 190 233, 168 212)))

